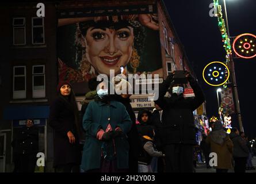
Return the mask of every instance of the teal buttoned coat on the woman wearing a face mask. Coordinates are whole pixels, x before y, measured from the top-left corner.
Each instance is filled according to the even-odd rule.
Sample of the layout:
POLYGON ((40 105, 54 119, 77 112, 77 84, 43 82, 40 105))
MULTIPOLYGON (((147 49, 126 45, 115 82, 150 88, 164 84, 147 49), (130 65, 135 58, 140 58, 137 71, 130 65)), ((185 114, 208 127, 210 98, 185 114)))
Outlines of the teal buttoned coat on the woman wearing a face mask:
MULTIPOLYGON (((132 126, 129 114, 125 106, 117 101, 111 101, 110 105, 102 102, 91 101, 83 115, 83 129, 86 131, 85 144, 81 168, 84 171, 101 168, 101 145, 104 141, 97 139, 100 129, 106 130, 110 123, 112 129, 120 127, 127 135, 132 126)), ((128 168, 129 143, 127 136, 114 139, 117 153, 117 168, 128 168)))

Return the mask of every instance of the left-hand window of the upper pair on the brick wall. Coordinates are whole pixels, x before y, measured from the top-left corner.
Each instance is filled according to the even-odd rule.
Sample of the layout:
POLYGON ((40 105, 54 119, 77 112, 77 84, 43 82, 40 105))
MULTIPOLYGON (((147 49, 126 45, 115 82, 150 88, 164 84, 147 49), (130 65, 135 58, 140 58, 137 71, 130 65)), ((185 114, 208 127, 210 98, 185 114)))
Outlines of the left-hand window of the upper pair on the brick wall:
POLYGON ((13 45, 26 44, 25 18, 13 18, 13 45))

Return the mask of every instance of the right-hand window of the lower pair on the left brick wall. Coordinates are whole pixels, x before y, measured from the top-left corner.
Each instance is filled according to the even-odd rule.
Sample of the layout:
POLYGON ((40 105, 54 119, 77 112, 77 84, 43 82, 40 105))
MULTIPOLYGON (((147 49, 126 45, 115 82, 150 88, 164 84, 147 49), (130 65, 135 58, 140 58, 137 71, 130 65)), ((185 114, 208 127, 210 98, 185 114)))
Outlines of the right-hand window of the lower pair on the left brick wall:
POLYGON ((33 98, 45 97, 45 72, 44 65, 35 65, 32 68, 33 98))

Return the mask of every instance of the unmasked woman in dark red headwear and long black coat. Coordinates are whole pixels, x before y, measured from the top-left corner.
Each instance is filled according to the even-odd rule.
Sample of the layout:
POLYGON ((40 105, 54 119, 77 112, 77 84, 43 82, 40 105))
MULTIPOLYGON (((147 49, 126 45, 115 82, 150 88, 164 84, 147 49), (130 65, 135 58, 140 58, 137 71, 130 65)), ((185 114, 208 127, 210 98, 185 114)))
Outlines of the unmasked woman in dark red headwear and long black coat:
POLYGON ((59 82, 58 97, 50 106, 49 125, 54 129, 54 168, 56 173, 78 173, 81 163, 79 150, 79 114, 72 86, 59 82))

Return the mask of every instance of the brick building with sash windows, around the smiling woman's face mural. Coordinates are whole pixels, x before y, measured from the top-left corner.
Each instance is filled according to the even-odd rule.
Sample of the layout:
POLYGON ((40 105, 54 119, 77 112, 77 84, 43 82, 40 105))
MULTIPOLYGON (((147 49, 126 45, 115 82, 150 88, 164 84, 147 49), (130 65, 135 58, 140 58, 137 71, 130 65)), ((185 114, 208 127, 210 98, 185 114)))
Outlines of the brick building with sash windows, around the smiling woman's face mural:
MULTIPOLYGON (((194 75, 166 7, 160 0, 45 1, 45 17, 37 17, 37 3, 14 1, 3 3, 0 7, 0 135, 1 144, 4 145, 0 152, 0 172, 11 172, 13 169, 11 142, 26 118, 36 120, 40 129, 39 151, 44 152, 46 159, 45 171, 53 171, 53 135, 47 121, 49 105, 56 96, 56 85, 60 78, 58 58, 62 57, 62 52, 58 50, 62 51, 62 48, 58 40, 68 39, 70 33, 61 34, 63 29, 58 25, 61 19, 156 15, 158 29, 148 31, 155 36, 152 42, 155 45, 145 46, 148 49, 153 48, 152 51, 156 54, 151 59, 152 51, 149 50, 145 52, 147 55, 141 57, 156 66, 162 79, 174 70, 188 70, 194 75)), ((65 58, 64 54, 62 58, 65 58)), ((75 66, 74 63, 70 66, 72 64, 75 66)), ((151 64, 144 64, 143 67, 142 71, 150 71, 151 64)), ((86 86, 85 81, 79 84, 86 86)), ((82 93, 77 93, 79 107, 83 96, 82 93)), ((154 102, 143 101, 147 97, 148 95, 132 95, 135 111, 145 107, 151 110, 154 108, 154 102)))

